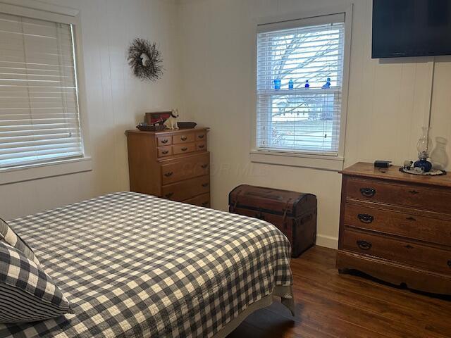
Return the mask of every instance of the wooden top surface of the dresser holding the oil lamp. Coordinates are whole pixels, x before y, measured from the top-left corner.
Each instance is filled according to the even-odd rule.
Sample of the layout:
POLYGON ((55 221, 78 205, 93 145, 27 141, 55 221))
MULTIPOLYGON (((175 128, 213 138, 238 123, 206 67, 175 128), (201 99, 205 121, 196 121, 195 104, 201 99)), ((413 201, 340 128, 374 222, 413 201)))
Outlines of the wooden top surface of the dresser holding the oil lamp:
POLYGON ((342 170, 340 173, 348 176, 395 180, 415 184, 428 184, 440 187, 451 187, 451 175, 422 176, 400 172, 400 167, 392 165, 390 168, 375 168, 373 163, 357 162, 342 170))

